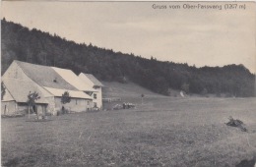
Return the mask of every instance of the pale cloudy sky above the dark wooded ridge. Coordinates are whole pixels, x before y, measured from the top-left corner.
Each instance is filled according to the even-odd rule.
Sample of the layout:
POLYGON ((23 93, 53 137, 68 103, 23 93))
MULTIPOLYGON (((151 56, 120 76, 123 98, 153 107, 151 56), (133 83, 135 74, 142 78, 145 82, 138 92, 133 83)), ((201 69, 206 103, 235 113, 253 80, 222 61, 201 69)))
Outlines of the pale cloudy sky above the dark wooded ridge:
POLYGON ((243 64, 256 72, 256 4, 222 2, 2 2, 2 17, 68 40, 188 65, 243 64), (222 5, 222 10, 182 9, 222 5), (153 9, 153 5, 181 9, 153 9), (238 8, 238 7, 237 7, 238 8))

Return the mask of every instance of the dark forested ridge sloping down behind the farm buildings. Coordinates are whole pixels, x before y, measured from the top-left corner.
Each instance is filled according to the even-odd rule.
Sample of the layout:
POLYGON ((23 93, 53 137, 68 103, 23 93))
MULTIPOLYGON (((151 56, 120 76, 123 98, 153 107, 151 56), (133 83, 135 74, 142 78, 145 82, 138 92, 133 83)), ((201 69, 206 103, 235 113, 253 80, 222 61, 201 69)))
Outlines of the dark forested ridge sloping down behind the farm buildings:
MULTIPOLYGON (((242 55, 241 55, 242 56, 242 55)), ((253 96, 254 75, 243 65, 190 67, 78 44, 38 29, 2 20, 2 74, 13 60, 91 73, 101 81, 133 82, 161 94, 169 89, 191 93, 253 96)))

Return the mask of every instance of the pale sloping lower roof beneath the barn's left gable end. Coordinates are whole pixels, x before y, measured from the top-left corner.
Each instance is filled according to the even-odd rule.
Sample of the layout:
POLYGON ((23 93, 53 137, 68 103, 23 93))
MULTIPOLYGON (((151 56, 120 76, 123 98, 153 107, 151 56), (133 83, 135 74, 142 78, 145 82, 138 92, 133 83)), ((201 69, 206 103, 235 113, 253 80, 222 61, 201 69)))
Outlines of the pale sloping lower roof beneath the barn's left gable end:
POLYGON ((13 99, 17 102, 27 102, 28 95, 31 92, 36 91, 40 98, 35 103, 48 103, 43 97, 44 94, 39 88, 32 82, 27 82, 19 79, 3 79, 2 81, 7 90, 12 95, 13 99))

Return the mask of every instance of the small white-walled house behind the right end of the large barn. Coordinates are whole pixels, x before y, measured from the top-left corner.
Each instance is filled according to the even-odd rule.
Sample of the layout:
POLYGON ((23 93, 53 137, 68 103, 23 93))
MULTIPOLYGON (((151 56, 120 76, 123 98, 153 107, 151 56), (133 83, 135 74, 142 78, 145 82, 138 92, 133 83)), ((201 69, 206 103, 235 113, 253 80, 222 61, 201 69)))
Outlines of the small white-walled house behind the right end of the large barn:
POLYGON ((93 97, 94 107, 102 109, 102 83, 100 83, 93 75, 81 73, 79 78, 86 84, 90 85, 96 91, 90 93, 93 97))

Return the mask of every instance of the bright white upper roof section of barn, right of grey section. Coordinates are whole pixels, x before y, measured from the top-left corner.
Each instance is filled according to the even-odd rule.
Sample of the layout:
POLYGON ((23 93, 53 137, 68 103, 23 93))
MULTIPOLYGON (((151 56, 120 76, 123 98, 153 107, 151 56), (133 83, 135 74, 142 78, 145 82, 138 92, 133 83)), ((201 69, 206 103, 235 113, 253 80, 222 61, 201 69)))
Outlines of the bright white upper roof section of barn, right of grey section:
POLYGON ((77 89, 82 91, 96 91, 93 87, 90 87, 88 84, 84 83, 75 73, 71 70, 60 69, 52 67, 52 69, 59 74, 67 83, 75 86, 77 89))

